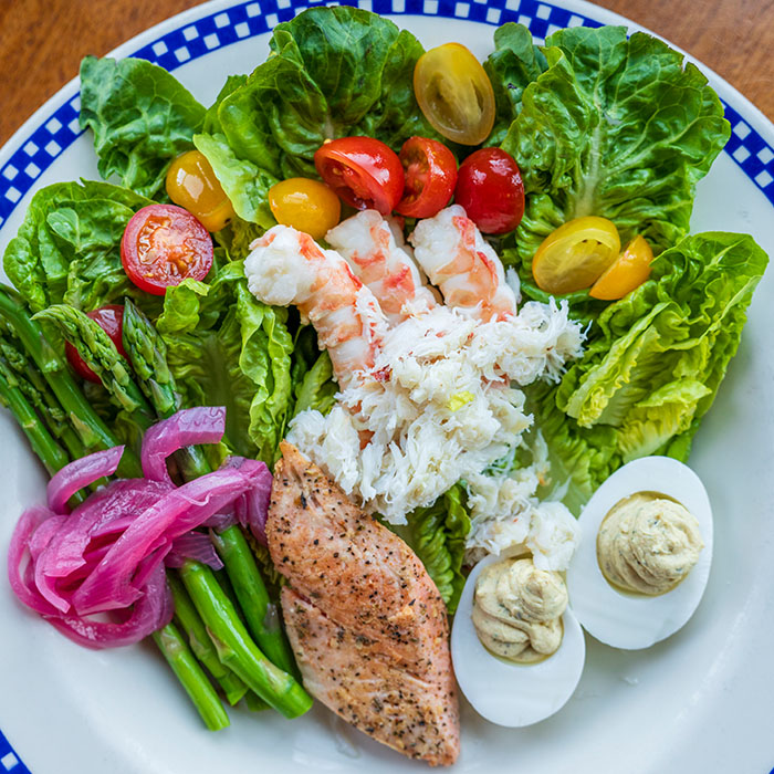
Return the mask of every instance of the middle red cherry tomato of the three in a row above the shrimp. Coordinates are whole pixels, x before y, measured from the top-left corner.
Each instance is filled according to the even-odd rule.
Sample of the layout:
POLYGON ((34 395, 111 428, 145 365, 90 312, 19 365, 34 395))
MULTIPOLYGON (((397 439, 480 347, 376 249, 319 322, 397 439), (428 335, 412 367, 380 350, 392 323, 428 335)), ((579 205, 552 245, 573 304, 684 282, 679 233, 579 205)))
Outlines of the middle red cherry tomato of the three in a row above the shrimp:
POLYGON ((395 208, 409 218, 432 218, 451 199, 457 185, 457 159, 436 139, 410 137, 400 148, 406 188, 395 208))

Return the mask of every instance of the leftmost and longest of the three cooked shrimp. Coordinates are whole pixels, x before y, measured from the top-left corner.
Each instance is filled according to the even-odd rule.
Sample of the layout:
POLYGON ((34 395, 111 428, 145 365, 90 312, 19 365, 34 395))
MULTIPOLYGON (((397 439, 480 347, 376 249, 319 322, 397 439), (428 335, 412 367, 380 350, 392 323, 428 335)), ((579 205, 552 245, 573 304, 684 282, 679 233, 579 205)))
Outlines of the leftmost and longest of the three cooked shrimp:
POLYGON ((244 261, 250 292, 266 304, 299 307, 317 331, 321 349, 328 351, 342 388, 373 367, 387 320, 337 252, 287 226, 275 226, 250 247, 244 261))

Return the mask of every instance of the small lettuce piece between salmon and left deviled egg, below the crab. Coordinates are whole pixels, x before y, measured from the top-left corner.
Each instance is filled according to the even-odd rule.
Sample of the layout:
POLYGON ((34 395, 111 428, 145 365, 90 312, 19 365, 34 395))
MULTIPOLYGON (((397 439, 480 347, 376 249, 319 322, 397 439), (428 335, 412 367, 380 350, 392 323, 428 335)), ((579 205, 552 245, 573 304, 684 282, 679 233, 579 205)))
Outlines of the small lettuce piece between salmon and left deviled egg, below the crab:
POLYGON ((462 558, 464 540, 470 532, 462 484, 454 484, 429 508, 412 511, 407 520, 408 526, 397 527, 395 532, 421 559, 452 614, 464 586, 462 558))

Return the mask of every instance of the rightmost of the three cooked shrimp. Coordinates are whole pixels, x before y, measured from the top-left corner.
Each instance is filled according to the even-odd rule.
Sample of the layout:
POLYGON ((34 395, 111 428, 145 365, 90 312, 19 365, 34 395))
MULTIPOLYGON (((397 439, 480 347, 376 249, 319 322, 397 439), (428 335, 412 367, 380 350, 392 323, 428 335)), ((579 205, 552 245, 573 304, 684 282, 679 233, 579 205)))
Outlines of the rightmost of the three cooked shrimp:
POLYGON ((483 322, 516 313, 500 259, 459 205, 419 221, 409 239, 417 263, 440 287, 447 306, 483 322))

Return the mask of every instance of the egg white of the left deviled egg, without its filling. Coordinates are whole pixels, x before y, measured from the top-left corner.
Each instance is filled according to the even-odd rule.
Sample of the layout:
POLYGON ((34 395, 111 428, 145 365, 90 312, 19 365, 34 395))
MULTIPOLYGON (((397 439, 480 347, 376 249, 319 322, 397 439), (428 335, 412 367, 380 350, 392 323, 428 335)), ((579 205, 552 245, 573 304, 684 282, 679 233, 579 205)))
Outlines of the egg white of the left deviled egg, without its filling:
POLYGON ((475 579, 502 556, 479 562, 466 582, 451 630, 451 660, 457 682, 475 711, 498 725, 532 725, 564 707, 580 680, 586 659, 583 630, 567 608, 562 616, 564 636, 558 650, 533 665, 519 665, 493 656, 473 627, 475 579))

